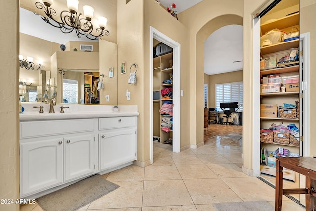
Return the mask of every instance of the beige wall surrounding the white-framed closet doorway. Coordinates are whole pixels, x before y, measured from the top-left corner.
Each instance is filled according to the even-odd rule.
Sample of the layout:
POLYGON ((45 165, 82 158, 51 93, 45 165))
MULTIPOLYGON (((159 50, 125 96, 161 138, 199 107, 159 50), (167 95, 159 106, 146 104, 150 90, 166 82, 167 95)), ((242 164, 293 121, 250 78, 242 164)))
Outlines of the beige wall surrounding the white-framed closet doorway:
MULTIPOLYGON (((184 124, 190 121, 190 45, 187 43, 190 42, 189 29, 186 28, 181 22, 176 18, 170 15, 164 8, 158 5, 153 0, 144 0, 144 67, 145 70, 150 70, 149 66, 149 35, 150 35, 150 26, 157 29, 159 32, 163 33, 172 40, 180 44, 180 89, 183 90, 184 96, 180 97, 180 148, 187 147, 192 143, 188 138, 191 133, 191 128, 188 124, 184 124), (165 24, 168 23, 168 24, 165 24)), ((154 43, 153 43, 154 45, 154 43)), ((144 85, 149 87, 150 75, 149 72, 145 72, 144 76, 144 85)), ((149 116, 149 96, 152 93, 149 93, 149 89, 144 90, 145 97, 145 116, 149 116)), ((146 118, 145 122, 145 138, 148 140, 148 125, 149 119, 146 118)), ((146 156, 149 157, 149 142, 145 143, 145 152, 146 156)))

